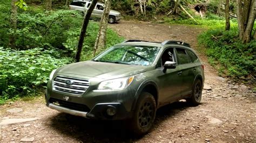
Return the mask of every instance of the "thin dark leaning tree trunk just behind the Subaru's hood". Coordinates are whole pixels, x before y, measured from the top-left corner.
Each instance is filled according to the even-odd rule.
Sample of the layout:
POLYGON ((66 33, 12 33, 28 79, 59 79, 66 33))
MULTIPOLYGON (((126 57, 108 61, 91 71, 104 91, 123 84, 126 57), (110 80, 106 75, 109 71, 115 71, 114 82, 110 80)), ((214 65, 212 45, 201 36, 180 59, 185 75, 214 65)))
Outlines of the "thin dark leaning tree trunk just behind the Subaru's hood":
POLYGON ((81 56, 81 52, 82 52, 82 48, 83 48, 86 28, 88 26, 89 19, 91 17, 92 11, 95 8, 97 2, 98 2, 97 0, 92 0, 91 5, 89 6, 89 8, 87 9, 87 11, 85 13, 83 25, 82 25, 82 28, 81 28, 81 33, 80 33, 79 40, 78 40, 77 53, 76 53, 76 57, 75 57, 75 62, 79 62, 80 61, 80 56, 81 56))

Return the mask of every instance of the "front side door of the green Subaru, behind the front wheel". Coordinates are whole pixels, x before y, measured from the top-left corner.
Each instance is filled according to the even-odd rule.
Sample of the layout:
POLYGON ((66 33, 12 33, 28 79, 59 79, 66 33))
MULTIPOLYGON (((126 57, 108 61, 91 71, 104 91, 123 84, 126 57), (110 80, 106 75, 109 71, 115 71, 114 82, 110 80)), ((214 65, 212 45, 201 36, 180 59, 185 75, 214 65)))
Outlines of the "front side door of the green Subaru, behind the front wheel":
POLYGON ((161 58, 159 59, 159 102, 161 104, 167 104, 176 101, 180 98, 180 86, 182 77, 179 75, 180 68, 166 69, 164 71, 164 63, 166 61, 177 62, 176 55, 174 55, 174 48, 170 47, 165 49, 161 58))

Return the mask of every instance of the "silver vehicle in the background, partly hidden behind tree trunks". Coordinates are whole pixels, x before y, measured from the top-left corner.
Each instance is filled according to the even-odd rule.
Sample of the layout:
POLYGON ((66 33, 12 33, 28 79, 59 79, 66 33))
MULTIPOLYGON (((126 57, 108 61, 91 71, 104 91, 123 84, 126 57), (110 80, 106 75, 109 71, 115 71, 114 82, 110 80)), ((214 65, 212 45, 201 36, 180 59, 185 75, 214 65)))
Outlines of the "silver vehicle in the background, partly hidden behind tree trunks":
MULTIPOLYGON (((91 2, 89 1, 73 1, 69 5, 70 10, 78 10, 85 13, 85 11, 89 8, 91 5, 91 2)), ((101 17, 104 10, 104 4, 103 3, 97 3, 95 6, 95 9, 92 11, 93 17, 101 17)), ((118 11, 110 10, 109 13, 109 23, 113 24, 116 23, 121 19, 121 14, 118 11)))

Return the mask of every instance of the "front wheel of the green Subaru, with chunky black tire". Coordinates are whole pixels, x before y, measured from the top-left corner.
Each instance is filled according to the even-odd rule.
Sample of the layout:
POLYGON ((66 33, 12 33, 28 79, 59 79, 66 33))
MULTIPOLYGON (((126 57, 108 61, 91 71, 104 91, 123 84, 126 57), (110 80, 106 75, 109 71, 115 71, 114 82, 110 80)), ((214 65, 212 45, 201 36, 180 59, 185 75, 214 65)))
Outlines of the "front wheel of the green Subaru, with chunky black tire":
POLYGON ((140 94, 134 115, 130 120, 130 128, 136 135, 143 135, 150 131, 156 117, 156 101, 149 92, 140 94))

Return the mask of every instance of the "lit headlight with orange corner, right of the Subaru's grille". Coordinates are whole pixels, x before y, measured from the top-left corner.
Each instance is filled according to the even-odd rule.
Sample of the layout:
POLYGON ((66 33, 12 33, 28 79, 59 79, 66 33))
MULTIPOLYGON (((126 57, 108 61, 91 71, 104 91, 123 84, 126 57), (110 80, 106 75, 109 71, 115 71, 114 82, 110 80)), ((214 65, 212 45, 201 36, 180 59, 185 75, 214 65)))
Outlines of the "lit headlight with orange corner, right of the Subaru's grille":
POLYGON ((95 91, 112 91, 112 90, 122 90, 128 87, 133 81, 134 76, 117 78, 114 80, 103 81, 99 84, 99 87, 95 91))

